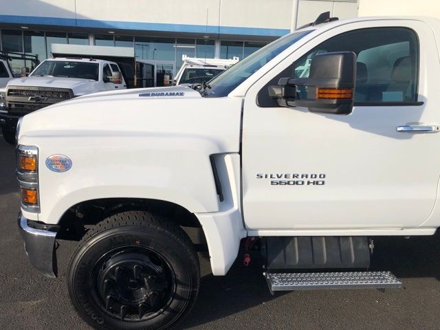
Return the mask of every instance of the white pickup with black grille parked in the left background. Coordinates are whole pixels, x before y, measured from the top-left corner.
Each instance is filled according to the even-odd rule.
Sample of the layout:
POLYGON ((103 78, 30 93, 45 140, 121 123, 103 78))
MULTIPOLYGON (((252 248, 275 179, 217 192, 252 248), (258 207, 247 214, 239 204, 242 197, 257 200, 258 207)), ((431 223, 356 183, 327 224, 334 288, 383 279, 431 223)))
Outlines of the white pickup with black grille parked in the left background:
POLYGON ((0 109, 4 139, 15 143, 19 118, 50 104, 98 91, 126 89, 118 64, 89 58, 49 58, 28 77, 9 80, 0 109))

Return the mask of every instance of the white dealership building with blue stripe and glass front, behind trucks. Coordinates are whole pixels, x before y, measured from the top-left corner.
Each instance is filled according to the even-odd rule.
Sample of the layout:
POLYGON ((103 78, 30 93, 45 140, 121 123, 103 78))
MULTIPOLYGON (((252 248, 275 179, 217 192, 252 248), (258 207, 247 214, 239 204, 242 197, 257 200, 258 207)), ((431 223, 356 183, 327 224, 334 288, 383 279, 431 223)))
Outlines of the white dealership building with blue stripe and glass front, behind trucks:
MULTIPOLYGON (((0 0, 0 49, 52 56, 53 43, 132 47, 175 72, 182 55, 240 59, 321 12, 358 16, 357 0, 0 0)), ((14 60, 14 72, 30 66, 14 60)))

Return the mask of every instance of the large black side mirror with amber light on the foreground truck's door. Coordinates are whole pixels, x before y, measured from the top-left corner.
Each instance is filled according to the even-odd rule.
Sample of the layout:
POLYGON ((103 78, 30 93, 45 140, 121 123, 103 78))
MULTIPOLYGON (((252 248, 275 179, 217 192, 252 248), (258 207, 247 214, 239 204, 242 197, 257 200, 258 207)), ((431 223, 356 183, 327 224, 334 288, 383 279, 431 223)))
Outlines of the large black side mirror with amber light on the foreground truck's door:
POLYGON ((353 110, 355 81, 356 54, 320 54, 311 60, 309 78, 281 78, 278 86, 269 87, 269 95, 281 107, 307 107, 311 112, 348 115, 353 110), (296 97, 298 86, 307 87, 307 98, 296 97))

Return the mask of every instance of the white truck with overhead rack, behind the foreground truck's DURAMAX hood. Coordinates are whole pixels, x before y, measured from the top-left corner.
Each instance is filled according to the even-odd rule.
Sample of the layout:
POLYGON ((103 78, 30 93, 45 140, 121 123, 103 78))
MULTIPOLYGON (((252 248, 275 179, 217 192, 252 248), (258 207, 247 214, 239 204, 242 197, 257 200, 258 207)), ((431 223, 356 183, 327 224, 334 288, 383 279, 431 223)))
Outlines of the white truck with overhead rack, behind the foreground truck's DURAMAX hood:
POLYGON ((239 62, 238 57, 229 60, 221 58, 197 58, 181 56, 184 62, 176 74, 173 85, 192 85, 208 82, 221 72, 239 62))

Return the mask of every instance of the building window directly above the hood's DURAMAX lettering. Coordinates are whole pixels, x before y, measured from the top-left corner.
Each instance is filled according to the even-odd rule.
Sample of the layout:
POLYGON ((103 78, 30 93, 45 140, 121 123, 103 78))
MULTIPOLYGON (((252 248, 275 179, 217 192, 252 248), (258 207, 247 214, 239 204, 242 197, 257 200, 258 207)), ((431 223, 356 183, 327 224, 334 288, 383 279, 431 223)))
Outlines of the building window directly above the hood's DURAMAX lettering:
POLYGON ((175 61, 175 39, 135 36, 135 54, 144 60, 175 61))

